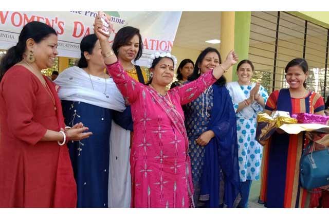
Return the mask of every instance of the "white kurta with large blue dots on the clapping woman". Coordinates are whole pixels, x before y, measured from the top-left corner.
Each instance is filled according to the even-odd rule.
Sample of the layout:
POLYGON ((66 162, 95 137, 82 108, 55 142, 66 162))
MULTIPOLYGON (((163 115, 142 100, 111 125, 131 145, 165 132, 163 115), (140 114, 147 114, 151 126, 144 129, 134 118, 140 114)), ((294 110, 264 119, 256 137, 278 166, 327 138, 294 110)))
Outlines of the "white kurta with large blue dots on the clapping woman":
MULTIPOLYGON (((249 97, 251 86, 242 85, 240 88, 243 93, 249 97)), ((230 97, 233 100, 233 93, 229 90, 230 97)), ((268 94, 263 86, 260 86, 260 95, 266 103, 268 94)), ((234 103, 234 111, 236 113, 239 103, 234 103)), ((239 173, 240 181, 259 180, 260 168, 262 163, 263 146, 255 140, 257 114, 263 111, 263 107, 258 102, 253 102, 251 107, 254 114, 250 119, 245 119, 242 114, 236 113, 236 134, 237 144, 239 145, 239 173)))

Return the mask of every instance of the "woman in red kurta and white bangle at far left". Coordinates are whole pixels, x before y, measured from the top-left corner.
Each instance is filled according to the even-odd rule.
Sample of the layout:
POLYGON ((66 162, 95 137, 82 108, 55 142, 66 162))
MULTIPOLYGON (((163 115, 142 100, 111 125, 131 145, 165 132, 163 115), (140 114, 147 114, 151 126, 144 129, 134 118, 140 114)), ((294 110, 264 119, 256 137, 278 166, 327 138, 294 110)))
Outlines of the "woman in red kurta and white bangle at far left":
POLYGON ((0 208, 76 207, 65 142, 91 133, 82 124, 64 131, 55 86, 41 74, 57 54, 56 31, 31 22, 1 61, 0 208))

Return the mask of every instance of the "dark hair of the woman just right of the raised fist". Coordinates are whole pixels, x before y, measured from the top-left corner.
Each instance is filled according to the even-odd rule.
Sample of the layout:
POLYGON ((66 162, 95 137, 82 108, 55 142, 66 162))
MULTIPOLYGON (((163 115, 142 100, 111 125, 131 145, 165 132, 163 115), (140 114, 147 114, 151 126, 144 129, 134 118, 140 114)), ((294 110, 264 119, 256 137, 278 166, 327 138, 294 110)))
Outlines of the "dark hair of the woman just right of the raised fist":
POLYGON ((113 40, 112 49, 117 57, 118 57, 119 48, 122 47, 123 45, 126 45, 128 41, 130 41, 136 34, 139 39, 139 46, 138 46, 137 56, 134 61, 137 61, 142 56, 143 42, 142 42, 142 36, 139 33, 139 29, 131 26, 126 26, 118 31, 118 33, 115 35, 113 40))

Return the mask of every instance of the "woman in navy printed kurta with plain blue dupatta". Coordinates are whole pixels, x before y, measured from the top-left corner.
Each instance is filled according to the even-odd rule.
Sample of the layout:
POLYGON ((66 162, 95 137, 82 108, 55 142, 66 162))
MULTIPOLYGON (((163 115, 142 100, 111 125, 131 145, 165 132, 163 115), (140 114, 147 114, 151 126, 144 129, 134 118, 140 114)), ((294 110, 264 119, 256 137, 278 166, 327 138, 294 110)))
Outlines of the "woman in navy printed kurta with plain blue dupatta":
MULTIPOLYGON (((206 48, 189 80, 220 63, 220 53, 206 48)), ((196 207, 236 207, 240 201, 236 121, 224 77, 185 106, 185 118, 196 207)))

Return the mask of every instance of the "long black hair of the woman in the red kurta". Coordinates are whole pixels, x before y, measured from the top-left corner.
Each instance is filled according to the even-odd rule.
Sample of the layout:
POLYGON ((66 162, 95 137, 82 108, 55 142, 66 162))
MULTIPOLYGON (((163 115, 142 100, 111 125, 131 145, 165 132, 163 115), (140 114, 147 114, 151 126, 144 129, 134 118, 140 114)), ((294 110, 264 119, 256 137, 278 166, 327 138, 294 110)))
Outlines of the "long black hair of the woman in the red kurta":
POLYGON ((26 41, 33 39, 35 43, 40 43, 50 34, 55 34, 56 30, 42 22, 30 22, 26 24, 19 36, 19 42, 16 46, 8 49, 6 55, 1 59, 0 62, 0 81, 4 77, 6 71, 23 60, 23 53, 26 50, 26 41))

